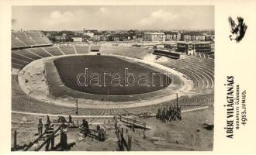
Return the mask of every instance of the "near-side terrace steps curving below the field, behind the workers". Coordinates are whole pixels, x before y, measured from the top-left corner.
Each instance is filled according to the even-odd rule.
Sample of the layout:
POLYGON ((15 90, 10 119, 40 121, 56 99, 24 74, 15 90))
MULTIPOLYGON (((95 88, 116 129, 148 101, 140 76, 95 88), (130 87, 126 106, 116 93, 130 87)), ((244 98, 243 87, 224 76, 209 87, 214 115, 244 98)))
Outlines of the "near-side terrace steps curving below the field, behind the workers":
MULTIPOLYGON (((78 108, 79 115, 139 115, 141 112, 157 112, 157 108, 175 105, 176 100, 160 105, 150 105, 136 108, 78 108)), ((209 106, 213 104, 213 95, 193 95, 178 98, 178 105, 183 105, 182 110, 209 106)), ((38 112, 49 114, 75 114, 75 108, 54 105, 30 98, 19 87, 18 75, 12 74, 12 110, 21 112, 38 112), (50 108, 49 108, 50 107, 50 108)))

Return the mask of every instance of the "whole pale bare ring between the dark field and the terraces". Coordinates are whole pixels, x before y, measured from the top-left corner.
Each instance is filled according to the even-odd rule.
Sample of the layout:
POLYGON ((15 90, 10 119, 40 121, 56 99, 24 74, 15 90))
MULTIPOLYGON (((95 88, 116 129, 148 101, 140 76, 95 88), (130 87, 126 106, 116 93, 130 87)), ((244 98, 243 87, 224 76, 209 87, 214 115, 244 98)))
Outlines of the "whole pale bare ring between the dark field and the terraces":
MULTIPOLYGON (((82 55, 92 54, 81 54, 81 56, 82 55)), ((75 91, 63 84, 54 64, 54 60, 58 58, 73 56, 75 55, 46 57, 40 60, 34 60, 19 71, 18 78, 20 87, 29 97, 54 105, 74 107, 74 99, 78 99, 79 107, 81 108, 144 107, 169 102, 176 98, 176 93, 178 93, 179 97, 196 95, 190 91, 194 83, 188 79, 185 74, 148 60, 140 60, 115 54, 108 54, 108 56, 118 57, 119 59, 148 67, 160 73, 168 71, 171 73, 171 84, 161 90, 138 95, 95 95, 75 91)))

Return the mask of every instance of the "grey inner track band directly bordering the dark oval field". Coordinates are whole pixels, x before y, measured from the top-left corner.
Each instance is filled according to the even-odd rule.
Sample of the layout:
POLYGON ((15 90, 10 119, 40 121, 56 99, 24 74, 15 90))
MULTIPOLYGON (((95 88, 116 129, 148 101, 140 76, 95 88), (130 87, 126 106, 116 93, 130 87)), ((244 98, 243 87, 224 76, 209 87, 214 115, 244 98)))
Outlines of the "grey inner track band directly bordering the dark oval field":
MULTIPOLYGON (((85 56, 89 57, 89 56, 85 56)), ((104 56, 95 56, 95 57, 103 57, 104 56)), ((105 56, 106 57, 106 56, 105 56)), ((108 56, 110 57, 110 56, 108 56)), ((125 62, 128 63, 128 61, 137 63, 139 67, 137 68, 147 68, 147 71, 155 71, 157 73, 164 73, 164 69, 160 69, 157 67, 153 67, 144 63, 141 63, 140 61, 138 62, 136 59, 128 59, 120 56, 114 56, 112 57, 118 57, 120 62, 125 62), (122 60, 121 60, 122 59, 122 60)), ((59 58, 60 59, 60 58, 59 58)), ((117 58, 116 58, 117 59, 117 58)), ((74 90, 72 88, 67 87, 63 81, 61 81, 61 74, 57 71, 57 67, 54 64, 54 60, 57 60, 56 58, 46 60, 45 61, 45 71, 47 75, 47 83, 49 86, 49 92, 50 95, 52 95, 54 98, 84 98, 86 100, 94 100, 94 101, 99 101, 99 102, 141 102, 143 100, 147 100, 150 98, 151 100, 154 98, 159 98, 159 97, 164 97, 168 95, 175 95, 175 92, 178 91, 178 89, 181 88, 181 79, 179 75, 176 74, 169 74, 168 77, 172 79, 172 83, 168 85, 168 87, 165 86, 165 88, 161 88, 159 90, 154 90, 157 87, 152 87, 151 92, 145 92, 141 94, 136 94, 134 95, 134 92, 131 92, 131 94, 127 95, 99 95, 99 94, 92 94, 88 92, 82 92, 78 90, 74 90), (133 94, 132 94, 133 93, 133 94)), ((56 62, 56 61, 55 61, 56 62)), ((130 63, 131 64, 131 63, 130 63)), ((75 66, 76 64, 74 64, 75 66)), ((69 66, 69 65, 68 65, 69 66)), ((106 68, 109 68, 109 66, 106 66, 106 68)), ((116 67, 112 67, 113 71, 115 70, 116 67)), ((122 67, 120 67, 122 70, 122 67)), ((124 68, 124 67, 123 67, 124 68)), ((81 68, 82 69, 82 68, 81 68)), ((137 73, 139 73, 137 71, 137 73)), ((74 79, 74 77, 73 77, 74 79)), ((108 90, 108 88, 106 88, 108 90)), ((107 92, 105 90, 105 92, 107 92)), ((124 89, 123 89, 124 90, 124 89)), ((133 88, 135 91, 136 89, 133 88)), ((132 91, 133 91, 132 90, 132 91)), ((147 88, 144 88, 144 90, 147 90, 147 88)), ((130 91, 130 88, 126 88, 126 92, 130 91)), ((104 92, 104 91, 102 91, 104 92)), ((141 90, 140 90, 141 92, 141 90)))

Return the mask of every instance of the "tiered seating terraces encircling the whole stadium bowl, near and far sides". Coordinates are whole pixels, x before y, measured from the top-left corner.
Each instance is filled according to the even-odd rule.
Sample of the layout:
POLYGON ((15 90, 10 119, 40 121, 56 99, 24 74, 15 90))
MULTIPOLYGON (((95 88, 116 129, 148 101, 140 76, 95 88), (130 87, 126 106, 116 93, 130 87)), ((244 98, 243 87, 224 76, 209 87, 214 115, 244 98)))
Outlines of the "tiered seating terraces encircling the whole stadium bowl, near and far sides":
MULTIPOLYGON (((40 33, 40 32, 37 32, 40 33)), ((40 34, 29 33, 29 38, 26 33, 19 32, 16 35, 15 41, 12 42, 12 46, 19 47, 26 43, 31 43, 31 40, 40 36, 40 34), (24 39, 20 40, 20 38, 24 39)), ((47 38, 45 38, 47 39, 47 38)), ((35 40, 36 41, 36 40, 35 40)), ((34 43, 34 42, 33 42, 34 43)), ((27 44, 26 44, 27 45, 27 44)), ((65 54, 75 53, 74 48, 78 54, 88 53, 90 51, 88 46, 62 46, 61 50, 65 54), (67 48, 66 48, 67 47, 67 48), (67 52, 69 48, 73 48, 71 52, 67 52)), ((92 47, 91 47, 92 48, 92 47)), ((93 47, 94 48, 94 47, 93 47)), ((29 48, 26 50, 12 50, 12 68, 20 69, 26 64, 29 64, 33 60, 40 59, 41 57, 50 57, 63 55, 58 47, 40 47, 29 48), (49 54, 50 53, 50 54, 49 54)), ((136 57, 143 59, 148 52, 139 47, 99 47, 101 53, 113 53, 126 57, 136 57)), ((161 62, 166 67, 175 68, 175 70, 186 74, 195 84, 194 91, 205 93, 207 89, 213 89, 214 87, 214 60, 201 58, 201 57, 187 57, 185 60, 168 60, 167 62, 161 62)), ((152 97, 153 98, 153 97, 152 97)), ((109 101, 111 97, 102 97, 102 101, 109 101)), ((124 98, 119 98, 119 102, 123 102, 124 98)), ((138 97, 137 100, 143 98, 138 97)), ((157 112, 157 108, 161 108, 165 105, 175 105, 175 100, 171 100, 168 103, 160 105, 149 105, 137 108, 78 108, 79 115, 127 115, 127 113, 133 113, 139 115, 141 112, 157 112)), ((183 105, 182 110, 188 110, 192 108, 198 108, 199 106, 209 106, 213 104, 213 95, 193 95, 182 96, 178 99, 178 104, 183 105)), ((24 91, 19 87, 18 76, 12 74, 12 110, 20 112, 38 112, 38 113, 50 113, 50 114, 75 114, 76 108, 65 107, 61 105, 54 105, 52 103, 43 102, 26 95, 24 91)))

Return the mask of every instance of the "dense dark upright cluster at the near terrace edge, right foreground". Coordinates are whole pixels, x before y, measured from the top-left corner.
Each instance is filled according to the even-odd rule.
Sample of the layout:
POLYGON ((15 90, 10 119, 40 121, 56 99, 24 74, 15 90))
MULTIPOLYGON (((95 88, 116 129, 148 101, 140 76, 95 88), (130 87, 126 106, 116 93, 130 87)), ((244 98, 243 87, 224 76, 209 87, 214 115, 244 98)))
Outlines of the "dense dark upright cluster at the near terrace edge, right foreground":
POLYGON ((182 107, 170 105, 168 108, 158 108, 156 118, 162 122, 182 120, 182 107))

